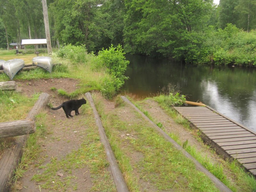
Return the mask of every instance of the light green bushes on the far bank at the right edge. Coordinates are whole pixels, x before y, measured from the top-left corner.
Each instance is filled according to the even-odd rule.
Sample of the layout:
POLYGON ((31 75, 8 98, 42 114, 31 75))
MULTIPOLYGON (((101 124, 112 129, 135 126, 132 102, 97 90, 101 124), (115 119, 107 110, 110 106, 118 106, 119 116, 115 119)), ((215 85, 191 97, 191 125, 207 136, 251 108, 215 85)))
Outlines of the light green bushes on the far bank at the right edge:
POLYGON ((209 27, 203 36, 205 40, 197 55, 197 62, 243 66, 256 64, 255 30, 247 33, 228 24, 226 28, 218 30, 209 27))

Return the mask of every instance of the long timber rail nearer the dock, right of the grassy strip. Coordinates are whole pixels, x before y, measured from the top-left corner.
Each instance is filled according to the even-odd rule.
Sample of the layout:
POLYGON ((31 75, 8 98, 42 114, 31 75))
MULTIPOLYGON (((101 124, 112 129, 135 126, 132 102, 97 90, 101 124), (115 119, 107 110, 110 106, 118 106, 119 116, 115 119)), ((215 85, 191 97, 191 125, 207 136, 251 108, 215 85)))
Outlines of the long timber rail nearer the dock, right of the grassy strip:
POLYGON ((226 186, 224 185, 218 178, 216 178, 211 172, 209 172, 206 168, 204 168, 204 166, 202 164, 200 164, 198 161, 196 161, 196 159, 191 156, 187 151, 185 151, 176 141, 174 141, 169 135, 167 135, 162 129, 160 129, 154 122, 152 122, 147 116, 145 116, 144 113, 142 113, 135 105, 132 104, 132 102, 130 100, 128 100, 126 97, 124 96, 121 96, 121 98, 127 102, 128 104, 130 104, 138 113, 140 113, 141 116, 144 117, 144 119, 146 119, 150 124, 152 124, 156 130, 161 133, 163 135, 163 137, 171 142, 173 144, 173 146, 175 148, 177 148, 178 150, 180 150, 186 157, 188 157, 189 159, 191 159, 195 166, 196 166, 196 169, 199 170, 199 171, 202 171, 204 172, 205 175, 207 175, 211 180, 212 182, 215 184, 215 186, 217 188, 220 189, 220 191, 229 191, 231 192, 231 190, 226 186))

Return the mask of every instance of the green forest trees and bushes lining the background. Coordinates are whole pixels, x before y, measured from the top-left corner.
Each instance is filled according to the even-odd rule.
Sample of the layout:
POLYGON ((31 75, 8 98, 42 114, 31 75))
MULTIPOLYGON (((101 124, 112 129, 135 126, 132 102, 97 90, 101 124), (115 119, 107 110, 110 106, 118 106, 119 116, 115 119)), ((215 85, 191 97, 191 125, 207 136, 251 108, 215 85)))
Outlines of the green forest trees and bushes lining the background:
MULTIPOLYGON (((0 4, 0 48, 45 38, 41 0, 0 4)), ((53 47, 85 45, 97 53, 121 44, 126 53, 186 63, 256 65, 256 0, 47 0, 47 6, 53 47)))

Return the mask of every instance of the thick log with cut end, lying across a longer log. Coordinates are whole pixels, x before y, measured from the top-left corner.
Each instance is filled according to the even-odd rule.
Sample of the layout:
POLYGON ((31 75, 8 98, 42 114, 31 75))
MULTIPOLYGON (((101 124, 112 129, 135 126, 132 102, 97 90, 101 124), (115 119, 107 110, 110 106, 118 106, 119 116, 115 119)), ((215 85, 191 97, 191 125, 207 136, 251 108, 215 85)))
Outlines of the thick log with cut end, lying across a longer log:
POLYGON ((34 132, 36 132, 36 124, 30 119, 0 123, 0 139, 34 132))

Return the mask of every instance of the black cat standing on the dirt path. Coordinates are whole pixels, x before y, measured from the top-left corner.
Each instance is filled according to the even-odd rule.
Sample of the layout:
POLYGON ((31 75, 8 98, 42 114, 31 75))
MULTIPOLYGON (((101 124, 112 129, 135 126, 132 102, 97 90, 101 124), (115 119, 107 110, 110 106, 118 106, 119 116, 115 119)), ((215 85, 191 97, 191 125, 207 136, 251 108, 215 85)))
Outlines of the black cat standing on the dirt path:
POLYGON ((71 111, 74 111, 74 110, 75 110, 76 115, 79 115, 80 113, 78 112, 78 109, 83 104, 86 104, 86 100, 84 98, 82 98, 82 99, 75 99, 75 100, 66 101, 66 102, 62 103, 59 107, 56 107, 56 108, 52 107, 51 109, 52 110, 57 110, 57 109, 63 108, 67 118, 69 118, 69 116, 73 117, 71 115, 71 111))

